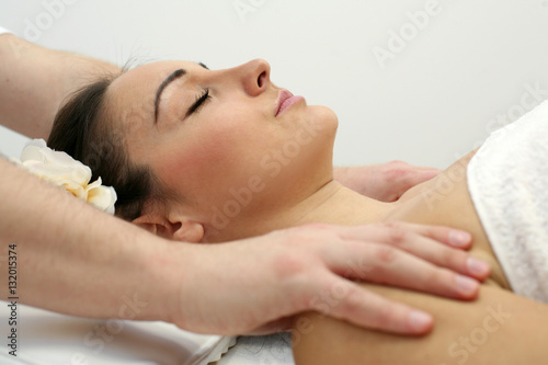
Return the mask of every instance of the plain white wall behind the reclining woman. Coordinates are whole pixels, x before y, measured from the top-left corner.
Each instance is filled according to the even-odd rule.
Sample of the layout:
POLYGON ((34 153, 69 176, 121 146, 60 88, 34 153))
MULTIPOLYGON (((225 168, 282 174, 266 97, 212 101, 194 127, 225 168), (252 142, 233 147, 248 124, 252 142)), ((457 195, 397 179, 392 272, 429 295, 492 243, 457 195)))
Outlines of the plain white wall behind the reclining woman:
MULTIPOLYGON (((548 0, 2 0, 0 24, 117 64, 265 58, 338 113, 336 164, 444 168, 548 99, 548 0)), ((0 151, 22 142, 0 130, 0 151)))

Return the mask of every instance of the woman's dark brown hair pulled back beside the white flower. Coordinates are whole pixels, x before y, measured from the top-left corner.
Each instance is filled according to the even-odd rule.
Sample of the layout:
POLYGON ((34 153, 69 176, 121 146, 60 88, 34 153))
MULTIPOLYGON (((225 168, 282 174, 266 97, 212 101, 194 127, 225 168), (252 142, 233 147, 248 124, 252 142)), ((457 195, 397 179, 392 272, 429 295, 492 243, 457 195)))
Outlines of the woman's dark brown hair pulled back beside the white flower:
POLYGON ((92 181, 101 176, 104 185, 114 186, 116 215, 133 220, 158 184, 149 168, 129 161, 123 133, 114 127, 115 113, 109 111, 106 100, 116 78, 104 76, 76 92, 57 113, 47 145, 89 166, 92 181))

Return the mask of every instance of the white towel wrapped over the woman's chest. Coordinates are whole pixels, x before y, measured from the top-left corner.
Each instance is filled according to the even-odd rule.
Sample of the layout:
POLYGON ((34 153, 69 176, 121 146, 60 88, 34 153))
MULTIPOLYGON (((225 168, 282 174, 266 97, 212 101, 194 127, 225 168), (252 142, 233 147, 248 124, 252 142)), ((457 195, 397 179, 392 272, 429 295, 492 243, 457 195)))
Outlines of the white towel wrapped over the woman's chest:
POLYGON ((512 289, 548 303, 548 101, 491 134, 468 189, 512 289))

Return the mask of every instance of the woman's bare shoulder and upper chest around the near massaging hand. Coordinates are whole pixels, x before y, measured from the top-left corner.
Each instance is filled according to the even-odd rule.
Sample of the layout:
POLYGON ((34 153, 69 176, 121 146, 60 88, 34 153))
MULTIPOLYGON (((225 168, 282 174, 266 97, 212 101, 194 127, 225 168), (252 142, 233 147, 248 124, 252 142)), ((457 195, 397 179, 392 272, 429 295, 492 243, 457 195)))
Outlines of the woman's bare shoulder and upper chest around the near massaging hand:
POLYGON ((478 300, 454 301, 362 284, 368 290, 432 312, 437 327, 424 338, 402 338, 357 329, 324 315, 304 313, 294 330, 297 364, 546 363, 548 307, 511 292, 469 196, 466 167, 472 155, 410 190, 383 220, 446 224, 471 232, 470 253, 492 267, 478 300))

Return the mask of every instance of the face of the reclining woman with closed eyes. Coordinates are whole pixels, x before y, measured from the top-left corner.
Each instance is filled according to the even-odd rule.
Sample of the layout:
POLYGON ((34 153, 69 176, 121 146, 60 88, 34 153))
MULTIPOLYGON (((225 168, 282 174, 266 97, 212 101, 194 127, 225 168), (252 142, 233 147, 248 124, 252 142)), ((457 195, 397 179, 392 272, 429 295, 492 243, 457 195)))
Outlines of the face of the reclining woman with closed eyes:
POLYGON ((162 61, 111 84, 129 159, 174 193, 171 210, 219 229, 331 179, 335 115, 270 72, 264 60, 224 70, 162 61))

